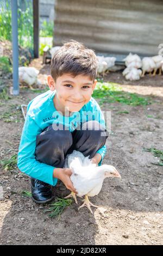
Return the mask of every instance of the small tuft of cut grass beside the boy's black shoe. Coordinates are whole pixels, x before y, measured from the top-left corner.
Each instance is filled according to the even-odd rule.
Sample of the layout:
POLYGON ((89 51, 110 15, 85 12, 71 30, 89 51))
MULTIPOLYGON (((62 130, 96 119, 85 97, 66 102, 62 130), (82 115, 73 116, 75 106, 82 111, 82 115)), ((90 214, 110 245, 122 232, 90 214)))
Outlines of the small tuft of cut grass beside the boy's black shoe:
POLYGON ((48 216, 51 218, 55 218, 57 216, 58 220, 60 218, 60 215, 62 214, 62 212, 64 211, 64 209, 68 206, 72 204, 72 200, 71 199, 62 199, 62 198, 57 198, 57 202, 50 204, 51 208, 45 210, 44 212, 50 212, 51 214, 49 214, 48 216))

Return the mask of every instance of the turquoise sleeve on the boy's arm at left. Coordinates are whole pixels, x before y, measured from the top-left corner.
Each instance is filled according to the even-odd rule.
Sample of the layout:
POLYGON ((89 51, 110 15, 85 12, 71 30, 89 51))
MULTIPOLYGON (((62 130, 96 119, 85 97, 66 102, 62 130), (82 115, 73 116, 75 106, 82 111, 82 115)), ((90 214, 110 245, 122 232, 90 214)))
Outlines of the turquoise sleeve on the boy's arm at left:
POLYGON ((32 178, 55 186, 57 184, 57 178, 53 178, 53 170, 55 167, 41 163, 35 159, 36 136, 40 132, 40 127, 30 115, 27 114, 18 149, 17 166, 21 172, 32 178))

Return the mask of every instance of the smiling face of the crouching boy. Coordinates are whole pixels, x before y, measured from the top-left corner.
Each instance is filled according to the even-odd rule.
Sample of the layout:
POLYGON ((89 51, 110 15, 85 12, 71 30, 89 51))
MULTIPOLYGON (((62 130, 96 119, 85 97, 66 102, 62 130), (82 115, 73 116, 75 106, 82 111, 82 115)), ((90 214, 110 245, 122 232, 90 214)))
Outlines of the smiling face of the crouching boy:
POLYGON ((57 111, 65 113, 65 108, 70 112, 79 111, 90 101, 97 80, 92 81, 89 76, 64 74, 55 82, 52 76, 48 76, 50 90, 56 90, 54 105, 57 111))

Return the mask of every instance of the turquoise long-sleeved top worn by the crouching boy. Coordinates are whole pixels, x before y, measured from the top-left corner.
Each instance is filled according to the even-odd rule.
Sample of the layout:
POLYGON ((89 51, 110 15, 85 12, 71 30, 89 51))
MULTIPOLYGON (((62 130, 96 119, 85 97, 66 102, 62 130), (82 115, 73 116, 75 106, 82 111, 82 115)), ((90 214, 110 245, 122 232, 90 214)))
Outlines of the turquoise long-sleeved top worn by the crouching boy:
MULTIPOLYGON (((55 90, 48 90, 39 96, 36 96, 29 102, 27 107, 26 120, 23 126, 20 147, 18 149, 17 166, 21 172, 50 185, 57 184, 57 178, 53 178, 54 166, 41 163, 35 159, 36 136, 41 133, 47 126, 53 124, 53 129, 57 130, 62 125, 67 130, 73 132, 78 125, 85 121, 97 120, 105 127, 104 115, 98 103, 91 97, 79 112, 73 112, 71 117, 65 117, 54 107, 53 98, 55 90)), ((106 152, 104 145, 97 153, 101 154, 102 160, 106 152)), ((99 162, 99 166, 102 163, 99 162)), ((55 171, 55 170, 54 170, 55 171)))

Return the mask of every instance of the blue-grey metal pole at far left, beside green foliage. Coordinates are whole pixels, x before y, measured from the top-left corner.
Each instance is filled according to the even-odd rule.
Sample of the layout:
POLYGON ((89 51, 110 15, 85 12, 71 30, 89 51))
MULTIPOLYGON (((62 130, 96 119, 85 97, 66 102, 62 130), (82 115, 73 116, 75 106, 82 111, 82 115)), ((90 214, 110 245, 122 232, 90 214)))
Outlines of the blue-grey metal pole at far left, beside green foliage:
POLYGON ((17 0, 11 0, 11 11, 12 11, 13 95, 18 95, 19 82, 18 82, 17 0))

